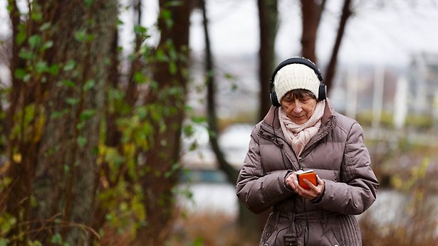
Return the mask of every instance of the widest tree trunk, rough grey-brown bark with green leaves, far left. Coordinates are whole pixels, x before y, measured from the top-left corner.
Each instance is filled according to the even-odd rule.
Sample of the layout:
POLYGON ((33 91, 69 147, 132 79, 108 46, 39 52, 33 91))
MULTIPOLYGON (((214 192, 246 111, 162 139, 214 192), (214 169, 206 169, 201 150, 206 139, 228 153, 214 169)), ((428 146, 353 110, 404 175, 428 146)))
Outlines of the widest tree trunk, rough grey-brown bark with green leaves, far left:
POLYGON ((21 137, 11 136, 11 165, 24 171, 11 175, 17 182, 25 180, 28 191, 24 204, 16 206, 25 214, 32 208, 19 221, 29 225, 21 228, 26 235, 23 242, 50 245, 53 235, 61 235, 70 245, 88 245, 93 235, 96 150, 108 78, 105 58, 113 40, 117 4, 115 0, 32 2, 24 48, 33 56, 26 57, 26 66, 11 66, 29 75, 28 81, 17 82, 21 97, 11 105, 15 108, 11 125, 21 125, 21 137), (47 24, 50 28, 43 28, 47 24))

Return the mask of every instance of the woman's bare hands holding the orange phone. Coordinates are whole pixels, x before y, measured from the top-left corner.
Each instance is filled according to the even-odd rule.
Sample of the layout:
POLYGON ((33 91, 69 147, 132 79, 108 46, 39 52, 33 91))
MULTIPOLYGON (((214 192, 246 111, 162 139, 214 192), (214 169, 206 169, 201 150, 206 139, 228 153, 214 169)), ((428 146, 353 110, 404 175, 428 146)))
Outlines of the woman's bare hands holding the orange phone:
POLYGON ((307 183, 307 185, 311 188, 310 190, 306 190, 298 184, 296 172, 289 174, 284 180, 284 183, 286 183, 286 186, 290 187, 299 196, 308 200, 313 200, 317 198, 320 193, 324 191, 325 183, 322 179, 319 178, 318 174, 316 175, 316 181, 318 182, 317 186, 314 186, 313 183, 308 181, 306 178, 303 179, 303 181, 304 183, 307 183))

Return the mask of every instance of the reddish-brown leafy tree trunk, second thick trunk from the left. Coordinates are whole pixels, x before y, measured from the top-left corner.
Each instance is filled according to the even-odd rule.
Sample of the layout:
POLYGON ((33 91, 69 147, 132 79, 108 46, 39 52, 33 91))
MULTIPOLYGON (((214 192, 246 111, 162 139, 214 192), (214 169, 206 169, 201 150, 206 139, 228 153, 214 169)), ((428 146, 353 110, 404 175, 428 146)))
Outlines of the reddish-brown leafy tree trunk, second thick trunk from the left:
POLYGON ((160 0, 159 28, 161 31, 157 53, 162 59, 154 64, 153 81, 145 105, 160 107, 159 119, 151 116, 154 124, 154 146, 145 153, 144 172, 140 183, 145 191, 147 225, 137 230, 134 245, 162 245, 170 232, 174 206, 172 189, 177 183, 179 145, 189 69, 189 16, 191 1, 179 5, 160 0), (170 16, 170 17, 166 17, 170 16))

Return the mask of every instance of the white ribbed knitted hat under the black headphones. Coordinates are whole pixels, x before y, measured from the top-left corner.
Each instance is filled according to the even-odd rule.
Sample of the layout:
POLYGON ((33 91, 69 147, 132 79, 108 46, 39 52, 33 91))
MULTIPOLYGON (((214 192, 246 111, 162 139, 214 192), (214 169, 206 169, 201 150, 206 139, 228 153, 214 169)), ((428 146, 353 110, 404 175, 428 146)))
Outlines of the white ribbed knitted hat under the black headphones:
POLYGON ((312 68, 293 63, 278 70, 273 78, 273 85, 278 102, 287 92, 296 89, 310 90, 318 98, 320 80, 312 68))

